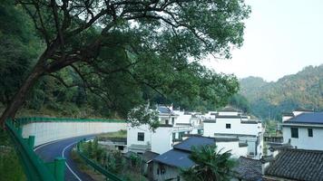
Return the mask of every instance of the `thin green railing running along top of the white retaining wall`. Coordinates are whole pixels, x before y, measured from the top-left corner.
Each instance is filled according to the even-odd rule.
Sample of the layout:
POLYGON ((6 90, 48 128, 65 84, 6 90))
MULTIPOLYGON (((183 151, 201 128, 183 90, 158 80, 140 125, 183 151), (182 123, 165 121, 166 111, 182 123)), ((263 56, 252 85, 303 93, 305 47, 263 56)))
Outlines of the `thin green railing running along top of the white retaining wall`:
POLYGON ((44 118, 31 117, 16 119, 19 125, 24 125, 33 122, 126 122, 124 119, 71 119, 71 118, 44 118))

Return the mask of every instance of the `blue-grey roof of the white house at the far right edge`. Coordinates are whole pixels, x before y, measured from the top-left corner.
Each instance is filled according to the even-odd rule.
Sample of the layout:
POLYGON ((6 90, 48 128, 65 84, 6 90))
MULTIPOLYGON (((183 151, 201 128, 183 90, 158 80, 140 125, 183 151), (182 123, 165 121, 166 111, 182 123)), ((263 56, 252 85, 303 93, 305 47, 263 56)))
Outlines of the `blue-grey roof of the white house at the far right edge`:
POLYGON ((323 124, 323 112, 304 112, 284 123, 323 124))

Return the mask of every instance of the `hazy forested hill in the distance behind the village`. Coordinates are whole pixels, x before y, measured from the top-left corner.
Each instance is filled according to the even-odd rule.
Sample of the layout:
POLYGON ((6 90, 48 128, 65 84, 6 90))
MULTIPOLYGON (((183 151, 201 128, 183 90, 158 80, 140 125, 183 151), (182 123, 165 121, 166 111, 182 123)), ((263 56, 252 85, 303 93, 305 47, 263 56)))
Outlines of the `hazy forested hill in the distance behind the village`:
POLYGON ((296 108, 323 110, 323 64, 308 66, 279 81, 242 79, 240 94, 250 101, 251 113, 261 119, 281 119, 281 112, 296 108))

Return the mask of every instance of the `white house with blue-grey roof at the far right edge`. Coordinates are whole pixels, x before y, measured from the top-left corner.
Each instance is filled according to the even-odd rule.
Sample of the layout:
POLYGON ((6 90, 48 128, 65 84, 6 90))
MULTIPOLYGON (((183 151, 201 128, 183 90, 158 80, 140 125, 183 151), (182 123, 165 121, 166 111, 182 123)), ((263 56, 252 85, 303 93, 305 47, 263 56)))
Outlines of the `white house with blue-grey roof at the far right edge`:
POLYGON ((323 112, 295 110, 283 115, 284 143, 293 148, 323 150, 323 112))

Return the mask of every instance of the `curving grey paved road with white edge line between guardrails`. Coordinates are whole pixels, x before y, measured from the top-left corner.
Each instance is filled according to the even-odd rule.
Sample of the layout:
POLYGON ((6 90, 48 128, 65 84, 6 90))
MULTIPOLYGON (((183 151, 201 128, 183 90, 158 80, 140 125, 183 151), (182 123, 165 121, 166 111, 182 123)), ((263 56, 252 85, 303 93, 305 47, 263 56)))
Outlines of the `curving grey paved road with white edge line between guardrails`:
POLYGON ((35 153, 41 157, 45 162, 54 161, 55 157, 65 157, 66 169, 65 169, 65 180, 67 181, 87 181, 93 180, 90 176, 81 172, 73 163, 71 158, 71 150, 73 146, 82 138, 93 138, 91 136, 66 138, 51 143, 44 144, 35 148, 35 153))

